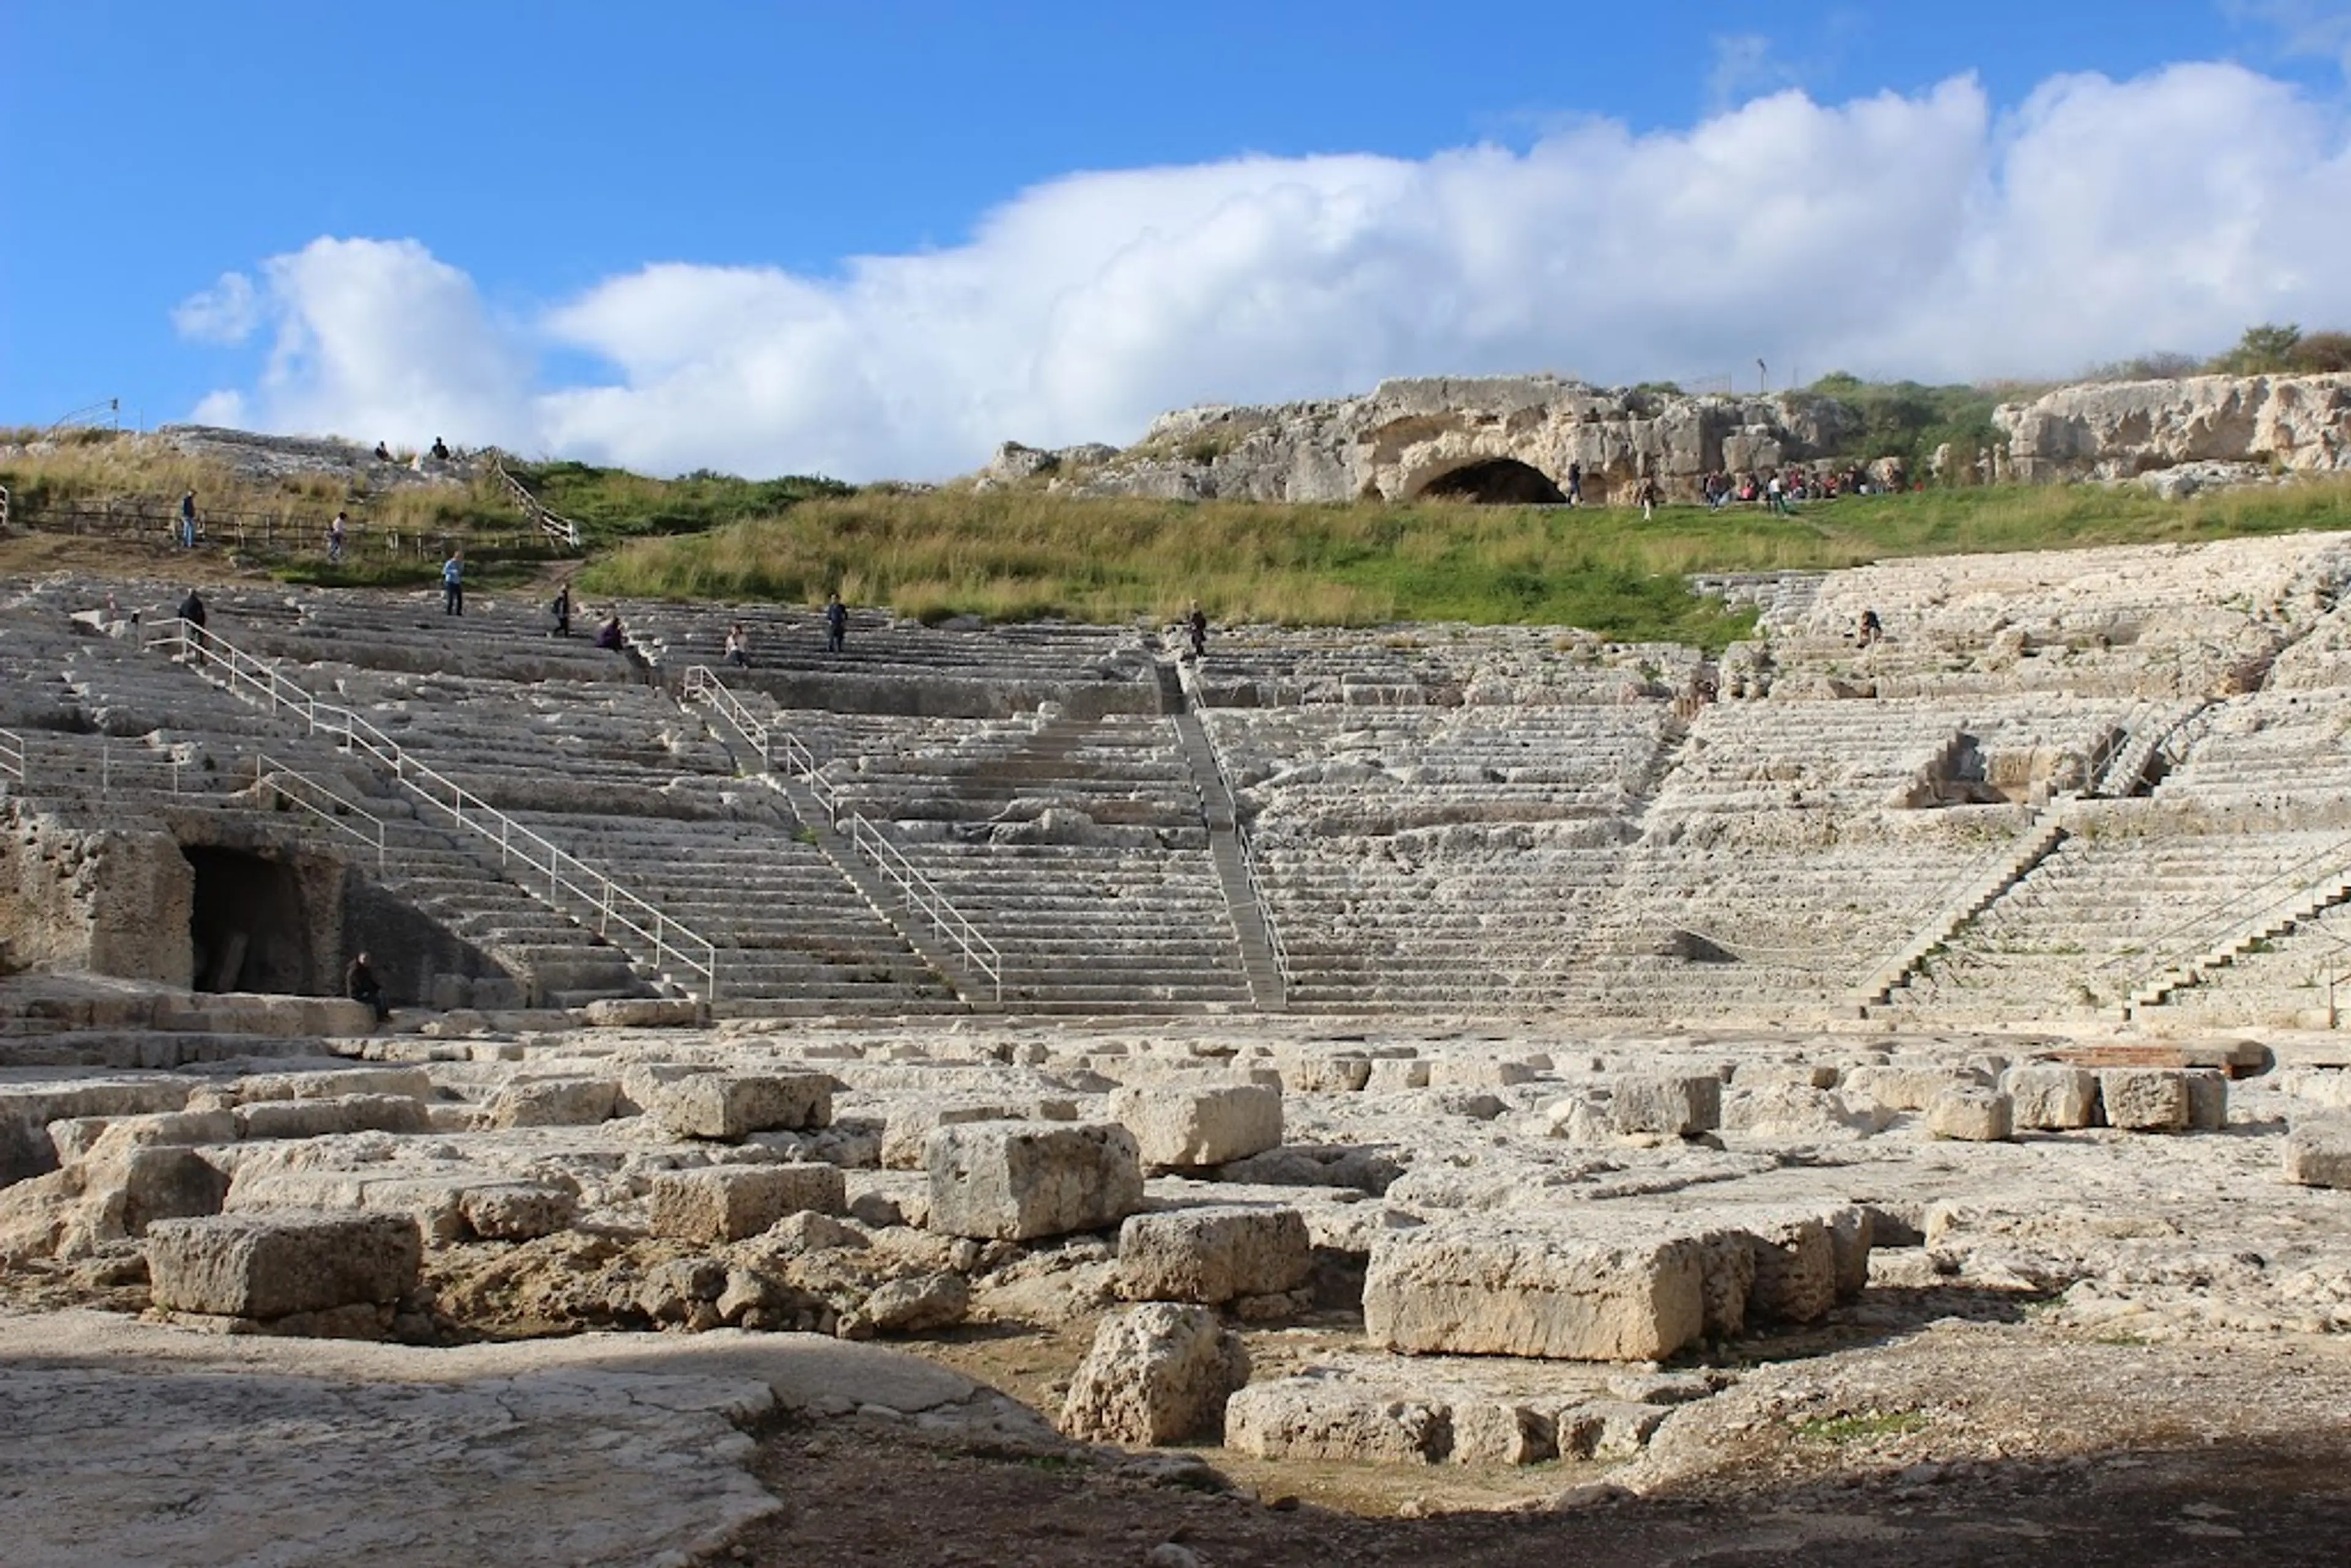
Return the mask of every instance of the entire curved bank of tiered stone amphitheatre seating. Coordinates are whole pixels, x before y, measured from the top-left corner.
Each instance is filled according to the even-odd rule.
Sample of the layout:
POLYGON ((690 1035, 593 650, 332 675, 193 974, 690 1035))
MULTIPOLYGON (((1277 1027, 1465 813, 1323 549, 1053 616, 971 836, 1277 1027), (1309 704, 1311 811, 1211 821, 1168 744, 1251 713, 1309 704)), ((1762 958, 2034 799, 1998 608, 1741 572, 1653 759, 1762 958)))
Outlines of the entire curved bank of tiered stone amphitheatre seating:
MULTIPOLYGON (((1178 665, 1133 628, 860 611, 830 656, 811 611, 621 604, 621 656, 550 637, 536 592, 475 592, 461 618, 437 592, 209 599, 219 632, 710 936, 734 1009, 962 1006, 802 820, 809 797, 672 696, 741 618, 755 668, 729 689, 997 945, 1006 1006, 1251 1006, 1230 783, 1310 1009, 1850 1016, 1895 983, 1886 1009, 1928 1023, 2088 1018, 2193 959, 2163 1006, 2219 1020, 2306 1013, 2346 919, 2323 896, 2351 875, 2346 578, 2351 545, 2304 536, 1726 581, 1770 637, 1766 661, 1723 656, 1716 703, 1695 649, 1528 628, 1218 628, 1178 665), (1874 649, 1846 637, 1864 607, 1890 628, 1874 649), (1213 752, 1161 717, 1178 684, 1213 752), (2151 792, 2109 757, 2151 757, 2151 792), (2128 799, 2071 799, 2085 785, 2128 799), (2299 924, 2215 947, 2295 879, 2299 924)), ((534 997, 656 978, 289 715, 68 618, 108 588, 148 621, 176 597, 0 597, 0 726, 40 745, 12 792, 355 853, 252 788, 268 755, 376 816, 395 891, 534 997)))

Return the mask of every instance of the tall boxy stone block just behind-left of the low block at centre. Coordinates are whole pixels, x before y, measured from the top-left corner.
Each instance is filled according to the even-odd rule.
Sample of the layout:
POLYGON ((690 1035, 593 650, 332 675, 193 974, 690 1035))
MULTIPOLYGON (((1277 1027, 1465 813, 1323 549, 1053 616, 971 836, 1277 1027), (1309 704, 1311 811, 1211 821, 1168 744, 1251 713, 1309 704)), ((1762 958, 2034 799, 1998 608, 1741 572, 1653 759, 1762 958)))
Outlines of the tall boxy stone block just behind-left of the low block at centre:
POLYGON ((973 1121, 931 1133, 931 1229, 1027 1241, 1110 1229, 1143 1206, 1136 1135, 1114 1121, 973 1121))

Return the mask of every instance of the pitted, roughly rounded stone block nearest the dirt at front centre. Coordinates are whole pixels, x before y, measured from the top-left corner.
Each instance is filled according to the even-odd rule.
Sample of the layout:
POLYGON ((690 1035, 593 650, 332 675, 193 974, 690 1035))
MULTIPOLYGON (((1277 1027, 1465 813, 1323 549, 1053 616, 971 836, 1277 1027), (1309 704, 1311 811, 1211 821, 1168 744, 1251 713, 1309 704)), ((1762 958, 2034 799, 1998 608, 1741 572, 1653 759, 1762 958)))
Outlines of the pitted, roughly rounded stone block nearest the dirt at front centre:
POLYGON ((1060 1429, 1098 1443, 1215 1436, 1248 1352, 1206 1307, 1145 1302, 1103 1319, 1070 1380, 1060 1429))

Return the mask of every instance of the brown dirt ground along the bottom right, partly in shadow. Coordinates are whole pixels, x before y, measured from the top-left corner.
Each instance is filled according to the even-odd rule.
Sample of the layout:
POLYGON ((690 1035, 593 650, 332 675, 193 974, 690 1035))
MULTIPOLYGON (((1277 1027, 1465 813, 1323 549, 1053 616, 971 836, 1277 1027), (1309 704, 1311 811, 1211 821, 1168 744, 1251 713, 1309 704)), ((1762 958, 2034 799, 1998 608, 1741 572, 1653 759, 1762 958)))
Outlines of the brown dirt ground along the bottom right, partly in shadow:
POLYGON ((1519 1472, 1507 1488, 1519 1500, 1479 1512, 1422 1497, 1453 1490, 1460 1472, 1375 1469, 1340 1488, 1366 1507, 1385 1500, 1380 1519, 1300 1505, 1291 1488, 1215 1493, 1225 1455, 1190 1458, 971 1450, 860 1418, 778 1425, 757 1474, 790 1507, 741 1535, 736 1561, 2342 1563, 2351 1349, 1944 1324, 1897 1347, 1768 1368, 1690 1406, 1648 1460, 1617 1472, 1646 1488, 1639 1497, 1587 1465, 1519 1472))

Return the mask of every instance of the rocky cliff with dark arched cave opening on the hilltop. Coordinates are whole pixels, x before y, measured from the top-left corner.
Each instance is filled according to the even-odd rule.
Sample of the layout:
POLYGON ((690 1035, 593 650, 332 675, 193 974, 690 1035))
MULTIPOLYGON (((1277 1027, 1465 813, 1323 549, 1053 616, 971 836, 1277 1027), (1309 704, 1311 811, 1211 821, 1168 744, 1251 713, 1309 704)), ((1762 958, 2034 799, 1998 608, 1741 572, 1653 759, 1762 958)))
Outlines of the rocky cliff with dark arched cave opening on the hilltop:
MULTIPOLYGON (((1573 465, 1589 501, 1629 498, 1643 477, 1690 496, 1707 473, 1831 456, 1857 433, 1846 404, 1803 393, 1683 397, 1556 376, 1446 376, 1331 402, 1180 409, 1126 451, 1058 463, 1053 484, 1183 501, 1559 501, 1573 465)), ((999 458, 983 482, 1034 473, 1051 468, 999 458)))

